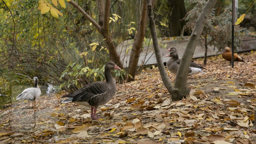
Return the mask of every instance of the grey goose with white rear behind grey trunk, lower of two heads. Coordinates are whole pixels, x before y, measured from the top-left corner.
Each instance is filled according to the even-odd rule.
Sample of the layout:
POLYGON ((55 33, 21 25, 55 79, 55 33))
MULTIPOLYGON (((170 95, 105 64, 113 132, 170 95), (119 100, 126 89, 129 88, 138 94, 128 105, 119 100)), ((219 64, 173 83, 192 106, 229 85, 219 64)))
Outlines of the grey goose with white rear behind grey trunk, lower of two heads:
MULTIPOLYGON (((175 51, 171 51, 165 57, 170 57, 170 59, 168 59, 166 62, 167 69, 171 71, 171 73, 176 74, 178 71, 178 66, 180 65, 180 62, 181 62, 181 59, 178 58, 178 54, 175 51)), ((202 66, 199 66, 194 62, 191 62, 188 75, 193 75, 197 73, 206 74, 204 71, 202 71, 202 69, 205 69, 205 68, 203 68, 202 66)))

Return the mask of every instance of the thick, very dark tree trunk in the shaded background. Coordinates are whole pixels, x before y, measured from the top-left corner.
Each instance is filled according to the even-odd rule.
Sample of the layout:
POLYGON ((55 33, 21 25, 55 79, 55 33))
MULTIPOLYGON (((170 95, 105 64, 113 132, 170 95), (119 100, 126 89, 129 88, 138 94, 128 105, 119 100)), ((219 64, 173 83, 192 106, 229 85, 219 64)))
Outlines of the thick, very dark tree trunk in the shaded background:
POLYGON ((185 21, 181 21, 186 15, 184 0, 169 0, 170 7, 172 8, 169 17, 169 30, 170 36, 180 36, 185 21))

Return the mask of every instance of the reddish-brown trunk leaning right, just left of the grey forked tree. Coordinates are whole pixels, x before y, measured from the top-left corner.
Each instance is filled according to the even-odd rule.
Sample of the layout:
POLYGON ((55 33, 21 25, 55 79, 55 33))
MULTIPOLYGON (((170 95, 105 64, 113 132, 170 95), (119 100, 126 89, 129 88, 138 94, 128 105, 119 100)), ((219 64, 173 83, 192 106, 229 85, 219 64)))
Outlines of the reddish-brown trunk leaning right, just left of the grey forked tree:
POLYGON ((130 54, 130 60, 129 60, 128 74, 131 75, 132 77, 128 76, 127 82, 133 81, 135 78, 135 74, 137 73, 137 65, 139 62, 140 51, 141 51, 142 44, 145 37, 145 29, 146 29, 146 23, 147 23, 146 14, 147 14, 146 0, 143 0, 140 21, 138 23, 138 34, 135 34, 132 52, 130 54))

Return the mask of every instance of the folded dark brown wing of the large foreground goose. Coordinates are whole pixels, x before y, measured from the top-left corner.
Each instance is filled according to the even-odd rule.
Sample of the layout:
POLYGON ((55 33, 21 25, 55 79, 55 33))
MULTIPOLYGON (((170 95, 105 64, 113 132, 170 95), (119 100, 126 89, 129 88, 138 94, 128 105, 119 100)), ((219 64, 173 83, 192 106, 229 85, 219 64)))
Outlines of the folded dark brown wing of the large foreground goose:
POLYGON ((73 97, 72 102, 75 101, 88 101, 91 97, 103 94, 107 91, 108 85, 106 82, 93 82, 85 85, 81 89, 73 92, 72 94, 63 97, 73 97))

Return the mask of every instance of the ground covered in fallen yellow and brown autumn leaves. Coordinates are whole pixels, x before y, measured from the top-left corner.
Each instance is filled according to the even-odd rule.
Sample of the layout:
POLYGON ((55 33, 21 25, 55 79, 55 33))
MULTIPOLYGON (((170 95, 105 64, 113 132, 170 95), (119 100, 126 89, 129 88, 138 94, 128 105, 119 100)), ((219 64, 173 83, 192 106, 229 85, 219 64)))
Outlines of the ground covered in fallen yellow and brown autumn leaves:
POLYGON ((14 103, 0 112, 0 143, 255 143, 256 52, 240 55, 247 64, 235 62, 234 69, 221 55, 209 57, 207 74, 188 77, 192 90, 181 101, 171 101, 158 68, 147 68, 117 85, 98 120, 88 107, 60 104, 66 93, 41 96, 34 109, 14 103))

